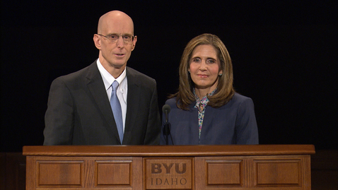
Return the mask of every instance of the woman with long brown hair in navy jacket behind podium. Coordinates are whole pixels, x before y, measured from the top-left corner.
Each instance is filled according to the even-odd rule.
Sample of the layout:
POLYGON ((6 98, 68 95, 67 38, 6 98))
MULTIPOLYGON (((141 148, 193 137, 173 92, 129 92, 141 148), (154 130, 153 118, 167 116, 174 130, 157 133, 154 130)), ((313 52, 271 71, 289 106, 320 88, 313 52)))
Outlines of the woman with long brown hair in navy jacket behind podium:
POLYGON ((163 128, 161 144, 258 143, 253 102, 235 93, 231 58, 216 35, 203 34, 190 40, 179 72, 178 92, 165 102, 171 107, 170 133, 167 136, 163 128))

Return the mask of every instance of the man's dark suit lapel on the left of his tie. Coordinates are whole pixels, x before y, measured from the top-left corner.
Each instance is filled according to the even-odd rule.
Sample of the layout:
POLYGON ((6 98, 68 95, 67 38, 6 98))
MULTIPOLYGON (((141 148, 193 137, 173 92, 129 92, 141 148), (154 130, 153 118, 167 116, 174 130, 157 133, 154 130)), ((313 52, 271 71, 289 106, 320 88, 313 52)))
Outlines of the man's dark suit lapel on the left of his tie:
POLYGON ((110 136, 115 136, 115 138, 120 139, 115 119, 112 115, 112 108, 110 107, 110 102, 105 91, 105 85, 103 84, 100 71, 98 71, 96 61, 88 67, 86 78, 88 90, 91 92, 93 100, 98 105, 98 109, 100 109, 101 114, 103 114, 105 121, 107 121, 107 131, 111 134, 110 136))

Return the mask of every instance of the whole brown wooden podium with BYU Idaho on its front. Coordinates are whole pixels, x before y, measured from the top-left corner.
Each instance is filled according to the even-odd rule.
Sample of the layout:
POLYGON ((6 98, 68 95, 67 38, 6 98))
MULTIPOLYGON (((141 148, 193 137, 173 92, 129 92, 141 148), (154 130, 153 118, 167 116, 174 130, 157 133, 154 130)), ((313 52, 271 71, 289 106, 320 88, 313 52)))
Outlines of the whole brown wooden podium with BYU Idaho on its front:
POLYGON ((27 190, 311 189, 312 145, 24 146, 27 190))

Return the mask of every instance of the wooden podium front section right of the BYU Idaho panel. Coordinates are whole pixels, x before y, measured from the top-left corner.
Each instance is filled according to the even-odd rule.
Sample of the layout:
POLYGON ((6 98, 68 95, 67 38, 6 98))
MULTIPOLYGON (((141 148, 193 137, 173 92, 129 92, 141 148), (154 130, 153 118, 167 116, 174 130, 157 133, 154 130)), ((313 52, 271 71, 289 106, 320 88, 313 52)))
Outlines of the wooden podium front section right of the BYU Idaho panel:
POLYGON ((198 157, 196 189, 310 189, 310 155, 198 157))

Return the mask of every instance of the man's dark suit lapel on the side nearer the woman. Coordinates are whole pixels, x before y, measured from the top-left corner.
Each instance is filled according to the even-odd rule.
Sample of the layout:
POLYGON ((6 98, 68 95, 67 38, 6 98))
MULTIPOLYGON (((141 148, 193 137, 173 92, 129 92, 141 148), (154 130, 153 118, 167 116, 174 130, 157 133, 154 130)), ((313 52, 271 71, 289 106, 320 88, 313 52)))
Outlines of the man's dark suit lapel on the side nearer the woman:
POLYGON ((137 112, 139 109, 139 98, 140 98, 140 85, 137 81, 135 73, 132 73, 127 67, 127 81, 128 81, 128 95, 127 95, 127 114, 126 114, 126 123, 124 126, 124 137, 123 141, 125 144, 128 144, 132 138, 132 130, 136 121, 137 112))

